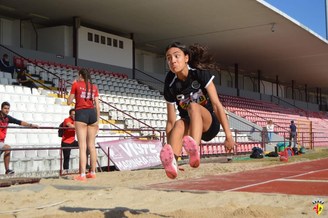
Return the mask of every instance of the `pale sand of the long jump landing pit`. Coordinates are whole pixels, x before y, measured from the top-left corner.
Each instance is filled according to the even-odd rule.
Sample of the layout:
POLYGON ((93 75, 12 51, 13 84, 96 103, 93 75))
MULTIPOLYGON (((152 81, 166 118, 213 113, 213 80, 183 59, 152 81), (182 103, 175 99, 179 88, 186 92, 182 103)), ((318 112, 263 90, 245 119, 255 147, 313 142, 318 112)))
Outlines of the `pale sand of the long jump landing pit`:
MULTIPOLYGON (((189 165, 178 179, 195 178, 208 174, 223 174, 266 167, 268 163, 201 164, 192 169, 189 165)), ((36 208, 61 201, 62 204, 28 209, 0 217, 261 217, 302 218, 317 217, 311 198, 314 196, 260 194, 249 192, 166 192, 138 190, 147 184, 172 181, 163 169, 97 173, 96 180, 86 183, 72 180, 72 176, 42 179, 43 190, 1 192, 0 212, 23 208, 36 208), (51 184, 66 186, 110 187, 99 190, 57 189, 51 184)), ((218 186, 220 184, 217 184, 218 186)), ((27 186, 27 185, 23 185, 27 186)), ((31 186, 31 185, 30 185, 31 186)), ((41 187, 42 188, 42 187, 41 187)), ((283 187, 282 187, 283 188, 283 187)), ((324 211, 323 211, 324 212, 324 211)))

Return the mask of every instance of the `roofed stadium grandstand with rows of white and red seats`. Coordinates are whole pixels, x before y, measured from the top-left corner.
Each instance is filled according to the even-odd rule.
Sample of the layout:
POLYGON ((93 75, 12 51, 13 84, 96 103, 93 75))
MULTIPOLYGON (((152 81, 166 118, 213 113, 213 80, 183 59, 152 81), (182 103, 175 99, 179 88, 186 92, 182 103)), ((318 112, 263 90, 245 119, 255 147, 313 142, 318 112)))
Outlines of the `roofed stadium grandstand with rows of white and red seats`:
MULTIPOLYGON (((174 7, 164 1, 59 2, 1 3, 0 56, 7 54, 11 66, 26 69, 43 88, 31 92, 17 73, 0 72, 0 100, 10 102, 9 114, 41 127, 10 125, 5 142, 14 149, 10 168, 16 173, 62 168, 58 127, 74 106, 66 102, 82 68, 99 90, 96 142, 157 137, 165 143, 163 89, 170 69, 164 51, 174 39, 206 45, 215 55, 220 70, 211 71, 213 82, 241 145, 237 153, 274 150, 265 129, 269 120, 274 144, 289 141, 294 120, 298 146, 328 146, 328 41, 265 1, 204 0, 200 8, 187 0, 174 7)), ((222 130, 202 142, 201 155, 226 155, 224 140, 222 130)), ((97 156, 100 166, 110 163, 100 148, 97 156)), ((188 158, 185 150, 180 156, 188 158)), ((70 161, 79 168, 78 149, 70 161)))

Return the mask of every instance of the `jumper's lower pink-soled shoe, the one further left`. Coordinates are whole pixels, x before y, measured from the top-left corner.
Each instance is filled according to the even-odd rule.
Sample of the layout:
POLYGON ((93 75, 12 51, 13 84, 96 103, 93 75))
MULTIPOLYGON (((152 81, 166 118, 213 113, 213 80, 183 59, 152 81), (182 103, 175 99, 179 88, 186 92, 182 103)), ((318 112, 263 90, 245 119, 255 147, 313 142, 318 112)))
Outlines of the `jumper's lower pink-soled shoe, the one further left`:
POLYGON ((178 169, 172 147, 168 144, 164 145, 159 156, 165 169, 166 175, 170 179, 175 179, 178 176, 178 169))

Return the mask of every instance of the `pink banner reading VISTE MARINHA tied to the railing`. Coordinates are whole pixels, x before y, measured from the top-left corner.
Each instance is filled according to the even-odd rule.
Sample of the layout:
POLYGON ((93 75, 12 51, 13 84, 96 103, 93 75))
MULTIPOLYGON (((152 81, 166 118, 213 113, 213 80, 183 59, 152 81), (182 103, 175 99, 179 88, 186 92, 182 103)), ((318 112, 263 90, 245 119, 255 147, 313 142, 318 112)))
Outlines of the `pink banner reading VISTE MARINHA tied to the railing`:
POLYGON ((120 139, 97 143, 120 170, 133 170, 161 165, 159 152, 163 144, 159 140, 120 139))

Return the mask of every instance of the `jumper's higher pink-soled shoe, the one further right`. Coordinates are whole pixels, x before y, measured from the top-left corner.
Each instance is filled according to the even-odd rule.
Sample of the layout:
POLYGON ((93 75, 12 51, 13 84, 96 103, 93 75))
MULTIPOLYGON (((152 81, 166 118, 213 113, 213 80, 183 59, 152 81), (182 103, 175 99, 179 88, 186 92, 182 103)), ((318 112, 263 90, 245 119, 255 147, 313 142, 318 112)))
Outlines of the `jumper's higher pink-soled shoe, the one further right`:
POLYGON ((182 146, 189 155, 189 165, 193 168, 197 168, 199 166, 200 160, 198 145, 196 144, 195 140, 189 135, 186 135, 182 139, 182 146))

